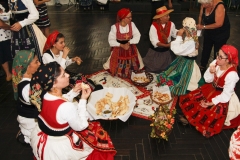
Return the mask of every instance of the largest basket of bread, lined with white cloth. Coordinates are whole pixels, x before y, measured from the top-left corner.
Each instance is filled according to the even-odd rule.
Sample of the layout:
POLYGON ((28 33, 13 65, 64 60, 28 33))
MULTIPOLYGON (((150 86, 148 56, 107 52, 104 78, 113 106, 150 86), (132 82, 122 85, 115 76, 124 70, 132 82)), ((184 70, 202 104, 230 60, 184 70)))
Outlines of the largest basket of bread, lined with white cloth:
POLYGON ((94 119, 126 121, 136 104, 135 95, 127 88, 104 88, 92 92, 87 111, 94 119))

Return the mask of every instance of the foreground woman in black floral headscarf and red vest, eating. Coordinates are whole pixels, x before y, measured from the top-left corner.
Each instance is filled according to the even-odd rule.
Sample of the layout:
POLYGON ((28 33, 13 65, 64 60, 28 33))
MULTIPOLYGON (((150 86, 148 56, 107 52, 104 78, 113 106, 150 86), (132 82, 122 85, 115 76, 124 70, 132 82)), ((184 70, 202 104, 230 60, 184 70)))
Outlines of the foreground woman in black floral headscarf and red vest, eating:
POLYGON ((57 63, 39 67, 31 80, 31 102, 41 110, 31 136, 34 156, 39 159, 113 160, 116 150, 99 122, 89 122, 86 102, 91 89, 81 85, 67 94, 69 74, 57 63), (81 99, 73 98, 81 92, 81 99), (42 98, 41 98, 42 97, 42 98))

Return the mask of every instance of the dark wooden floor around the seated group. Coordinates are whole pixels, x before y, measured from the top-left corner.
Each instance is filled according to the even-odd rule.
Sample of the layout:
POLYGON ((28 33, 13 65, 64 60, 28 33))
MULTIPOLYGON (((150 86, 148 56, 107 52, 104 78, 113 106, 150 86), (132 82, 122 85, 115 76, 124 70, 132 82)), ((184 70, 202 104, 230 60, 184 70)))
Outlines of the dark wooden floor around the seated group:
MULTIPOLYGON (((59 30, 66 37, 70 56, 78 55, 83 59, 81 66, 69 67, 75 72, 90 74, 102 69, 102 64, 110 54, 107 41, 110 26, 116 21, 116 13, 76 10, 67 5, 48 7, 51 18, 51 31, 59 30)), ((198 12, 171 13, 171 20, 177 28, 182 20, 190 16, 195 19, 198 12)), ((229 13, 231 20, 231 38, 228 43, 240 50, 240 18, 235 12, 229 13)), ((133 13, 133 21, 142 34, 138 49, 142 56, 147 53, 150 13, 133 13)), ((197 61, 201 58, 199 55, 197 61)), ((11 82, 0 77, 0 159, 31 160, 31 148, 22 146, 15 139, 18 132, 16 104, 13 99, 11 82)), ((240 95, 239 83, 237 94, 240 95)), ((116 147, 116 160, 227 160, 229 139, 234 129, 224 130, 212 138, 206 139, 195 128, 175 123, 169 141, 159 141, 149 137, 150 121, 130 117, 127 122, 118 120, 101 121, 116 147)))

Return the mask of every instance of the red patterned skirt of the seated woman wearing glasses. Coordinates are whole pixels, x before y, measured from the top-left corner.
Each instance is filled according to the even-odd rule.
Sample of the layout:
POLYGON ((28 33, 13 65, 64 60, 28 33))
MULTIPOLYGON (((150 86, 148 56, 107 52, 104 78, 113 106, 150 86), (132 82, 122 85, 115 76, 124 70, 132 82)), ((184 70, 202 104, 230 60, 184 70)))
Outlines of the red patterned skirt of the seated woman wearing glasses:
POLYGON ((212 101, 212 98, 221 94, 212 84, 205 84, 202 87, 180 96, 179 106, 189 123, 205 137, 211 137, 221 132, 227 116, 228 103, 203 108, 201 101, 212 101))

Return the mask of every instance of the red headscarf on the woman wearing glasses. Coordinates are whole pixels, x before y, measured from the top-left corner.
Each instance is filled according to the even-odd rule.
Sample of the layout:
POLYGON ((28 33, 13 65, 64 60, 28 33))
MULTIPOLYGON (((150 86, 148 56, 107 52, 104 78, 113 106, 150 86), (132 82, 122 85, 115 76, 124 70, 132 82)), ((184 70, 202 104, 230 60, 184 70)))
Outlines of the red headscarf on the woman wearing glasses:
POLYGON ((221 50, 228 56, 228 60, 238 66, 238 50, 231 45, 223 45, 221 50))

